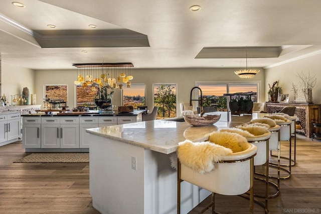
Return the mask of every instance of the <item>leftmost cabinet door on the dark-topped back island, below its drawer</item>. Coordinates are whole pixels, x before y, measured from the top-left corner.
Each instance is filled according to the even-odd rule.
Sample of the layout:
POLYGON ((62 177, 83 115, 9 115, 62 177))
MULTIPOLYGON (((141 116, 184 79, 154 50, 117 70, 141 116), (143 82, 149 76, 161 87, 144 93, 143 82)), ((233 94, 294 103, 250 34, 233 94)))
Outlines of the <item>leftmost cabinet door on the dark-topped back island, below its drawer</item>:
POLYGON ((22 143, 25 148, 41 148, 40 124, 25 124, 22 130, 22 143))

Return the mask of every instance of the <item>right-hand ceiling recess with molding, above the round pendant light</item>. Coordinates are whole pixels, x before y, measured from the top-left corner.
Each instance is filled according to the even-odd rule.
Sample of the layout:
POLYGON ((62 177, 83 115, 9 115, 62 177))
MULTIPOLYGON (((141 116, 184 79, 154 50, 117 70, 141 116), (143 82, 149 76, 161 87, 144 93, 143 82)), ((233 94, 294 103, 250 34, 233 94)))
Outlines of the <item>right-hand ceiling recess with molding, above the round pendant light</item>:
POLYGON ((266 47, 204 47, 195 58, 272 58, 279 57, 281 46, 266 47))

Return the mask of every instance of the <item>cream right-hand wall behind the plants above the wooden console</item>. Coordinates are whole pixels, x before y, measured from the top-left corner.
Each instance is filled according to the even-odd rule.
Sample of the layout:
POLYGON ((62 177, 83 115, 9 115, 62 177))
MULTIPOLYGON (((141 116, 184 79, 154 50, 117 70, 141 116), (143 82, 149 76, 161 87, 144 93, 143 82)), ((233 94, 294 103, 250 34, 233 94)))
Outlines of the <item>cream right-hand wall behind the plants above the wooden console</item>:
MULTIPOLYGON (((302 58, 293 62, 289 62, 283 65, 265 69, 265 101, 268 100, 267 91, 269 85, 272 85, 274 81, 279 81, 279 86, 282 87, 282 93, 288 93, 290 96, 290 102, 293 101, 293 92, 291 91, 291 83, 299 82, 297 72, 310 73, 310 76, 316 78, 316 87, 312 90, 313 102, 315 104, 321 103, 321 97, 318 94, 321 93, 321 87, 318 85, 321 82, 321 54, 302 58)), ((299 91, 301 93, 301 91, 299 91)), ((301 96, 302 97, 302 96, 301 96)), ((302 97, 303 98, 303 97, 302 97)), ((302 99, 301 99, 302 100, 302 99)), ((304 100, 304 99, 303 99, 304 100)), ((303 101, 302 100, 302 101, 303 101)), ((298 100, 296 100, 298 101, 298 100)))

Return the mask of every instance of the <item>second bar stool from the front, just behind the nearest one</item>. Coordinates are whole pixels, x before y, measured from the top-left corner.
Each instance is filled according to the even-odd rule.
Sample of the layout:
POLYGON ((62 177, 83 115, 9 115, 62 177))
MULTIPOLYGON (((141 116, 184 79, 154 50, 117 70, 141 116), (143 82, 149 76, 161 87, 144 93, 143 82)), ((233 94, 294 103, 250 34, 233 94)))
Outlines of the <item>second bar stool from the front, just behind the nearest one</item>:
MULTIPOLYGON (((268 211, 268 184, 269 184, 269 167, 268 167, 268 159, 269 159, 269 139, 271 137, 271 133, 267 130, 267 128, 260 127, 260 126, 238 126, 236 128, 231 129, 222 129, 220 132, 234 132, 240 133, 243 137, 246 138, 247 142, 253 144, 257 147, 257 154, 254 157, 254 173, 255 173, 255 166, 264 165, 265 166, 265 203, 258 200, 254 200, 257 204, 262 206, 265 209, 265 213, 269 213, 268 211), (242 131, 240 131, 242 130, 242 131), (249 135, 251 134, 251 135, 249 135)), ((254 194, 254 196, 259 196, 254 194)))

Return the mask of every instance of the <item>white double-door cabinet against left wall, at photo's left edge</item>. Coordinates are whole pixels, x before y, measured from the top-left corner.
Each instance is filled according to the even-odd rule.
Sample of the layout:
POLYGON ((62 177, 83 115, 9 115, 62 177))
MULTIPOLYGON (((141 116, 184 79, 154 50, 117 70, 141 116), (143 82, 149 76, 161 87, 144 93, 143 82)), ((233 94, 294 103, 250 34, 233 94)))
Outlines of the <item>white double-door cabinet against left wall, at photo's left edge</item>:
POLYGON ((21 138, 20 113, 0 115, 0 145, 18 141, 21 138))

